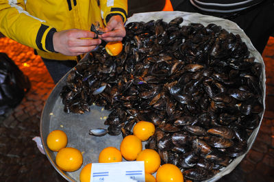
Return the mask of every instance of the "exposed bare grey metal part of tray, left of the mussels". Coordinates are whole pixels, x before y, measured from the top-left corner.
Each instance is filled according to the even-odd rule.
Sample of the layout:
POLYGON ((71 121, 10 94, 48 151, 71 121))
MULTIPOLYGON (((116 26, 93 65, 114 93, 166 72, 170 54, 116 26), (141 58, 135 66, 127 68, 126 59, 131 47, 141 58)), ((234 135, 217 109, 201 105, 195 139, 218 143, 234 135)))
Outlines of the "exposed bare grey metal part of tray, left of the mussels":
POLYGON ((86 114, 66 114, 64 112, 62 99, 59 96, 62 86, 64 85, 65 79, 63 78, 55 86, 49 99, 47 99, 47 103, 42 112, 40 135, 45 153, 55 170, 68 181, 79 181, 79 172, 81 169, 88 163, 98 162, 99 152, 103 150, 103 148, 107 146, 119 148, 122 136, 110 137, 110 135, 105 135, 95 137, 89 135, 89 129, 105 127, 103 122, 109 112, 104 110, 103 107, 91 105, 91 111, 86 114), (68 136, 67 146, 77 148, 82 152, 84 161, 82 168, 79 170, 75 172, 64 172, 55 164, 57 152, 53 152, 47 147, 47 135, 55 129, 60 129, 66 133, 68 136))

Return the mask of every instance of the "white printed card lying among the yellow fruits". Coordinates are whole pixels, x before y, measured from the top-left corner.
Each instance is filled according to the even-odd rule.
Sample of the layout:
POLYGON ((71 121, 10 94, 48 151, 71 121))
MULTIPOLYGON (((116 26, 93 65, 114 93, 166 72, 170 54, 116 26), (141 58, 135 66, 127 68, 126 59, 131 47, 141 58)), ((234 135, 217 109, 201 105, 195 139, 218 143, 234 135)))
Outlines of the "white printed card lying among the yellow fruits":
POLYGON ((145 182, 144 161, 92 163, 90 182, 145 182))

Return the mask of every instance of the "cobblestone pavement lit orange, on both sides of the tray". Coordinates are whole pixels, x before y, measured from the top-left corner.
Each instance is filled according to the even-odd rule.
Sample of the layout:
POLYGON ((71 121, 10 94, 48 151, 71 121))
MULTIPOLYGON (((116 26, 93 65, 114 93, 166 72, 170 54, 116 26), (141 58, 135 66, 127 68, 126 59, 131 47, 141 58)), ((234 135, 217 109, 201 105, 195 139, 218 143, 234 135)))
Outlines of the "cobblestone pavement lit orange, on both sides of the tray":
MULTIPOLYGON (((0 181, 65 181, 32 141, 40 135, 40 116, 53 81, 29 47, 0 38, 0 51, 7 53, 32 83, 21 104, 0 119, 0 181)), ((266 112, 260 132, 247 156, 219 181, 274 181, 274 38, 269 39, 263 57, 266 112)))

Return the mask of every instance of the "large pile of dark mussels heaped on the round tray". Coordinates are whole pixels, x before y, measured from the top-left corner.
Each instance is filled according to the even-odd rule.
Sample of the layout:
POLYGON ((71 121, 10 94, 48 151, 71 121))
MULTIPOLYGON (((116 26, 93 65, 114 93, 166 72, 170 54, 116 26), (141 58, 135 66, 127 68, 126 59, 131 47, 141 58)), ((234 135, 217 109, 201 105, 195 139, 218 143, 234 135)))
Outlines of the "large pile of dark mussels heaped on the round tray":
POLYGON ((123 52, 111 57, 100 46, 69 73, 60 96, 64 112, 84 114, 92 103, 110 110, 109 135, 153 122, 146 148, 201 181, 247 151, 264 110, 262 65, 238 34, 182 22, 128 23, 123 52))

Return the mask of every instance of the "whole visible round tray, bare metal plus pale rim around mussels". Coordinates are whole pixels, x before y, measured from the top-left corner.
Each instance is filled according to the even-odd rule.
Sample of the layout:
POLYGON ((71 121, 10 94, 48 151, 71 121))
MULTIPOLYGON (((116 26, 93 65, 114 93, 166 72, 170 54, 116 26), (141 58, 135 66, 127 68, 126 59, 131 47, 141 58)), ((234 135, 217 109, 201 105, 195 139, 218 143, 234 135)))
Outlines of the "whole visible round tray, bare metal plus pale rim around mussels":
MULTIPOLYGON (((244 42, 246 42, 247 47, 251 53, 251 56, 256 58, 256 62, 260 62, 262 64, 262 84, 263 84, 263 101, 265 99, 265 68, 264 62, 262 60, 262 56, 251 44, 249 38, 245 35, 244 31, 238 27, 235 23, 231 21, 224 20, 222 18, 216 18, 213 16, 204 16, 197 13, 188 13, 188 12, 147 12, 134 14, 132 17, 129 17, 127 23, 133 21, 150 21, 150 20, 158 20, 160 18, 163 21, 169 22, 173 18, 177 16, 182 16, 184 18, 184 22, 182 25, 188 25, 189 23, 201 23, 203 25, 208 25, 210 23, 215 23, 216 25, 221 25, 224 29, 234 34, 239 34, 244 42)), ((83 59, 88 59, 89 54, 86 54, 83 59)), ((103 137, 95 137, 89 135, 89 129, 95 129, 97 127, 105 127, 103 122, 107 118, 109 112, 103 109, 103 107, 97 107, 96 105, 90 106, 90 112, 86 114, 66 114, 64 112, 64 105, 62 104, 62 100, 59 96, 62 87, 65 85, 66 74, 53 88, 49 98, 47 99, 44 109, 42 111, 42 116, 40 120, 40 136, 42 139, 42 145, 45 150, 45 154, 47 155, 49 161, 57 170, 62 177, 64 177, 68 181, 79 181, 79 173, 82 168, 90 163, 90 162, 98 162, 98 157, 100 151, 107 146, 114 146, 119 148, 120 143, 122 141, 122 136, 110 136, 105 135, 103 137), (47 135, 55 130, 60 129, 64 131, 68 135, 68 145, 72 146, 83 153, 84 162, 82 167, 75 172, 64 172, 58 168, 55 164, 55 155, 56 152, 50 151, 47 147, 47 135)), ((265 103, 264 107, 265 107, 265 103)), ((262 113, 263 114, 263 113, 262 113)), ((262 119, 260 123, 262 122, 262 119)), ((260 125, 254 129, 248 140, 248 151, 251 148, 253 142, 256 139, 256 135, 259 131, 260 125)), ((248 152, 247 151, 247 152, 248 152)), ((244 155, 237 157, 232 161, 229 166, 224 168, 221 172, 216 174, 212 179, 208 181, 216 181, 223 177, 225 174, 229 174, 242 160, 244 155)))

